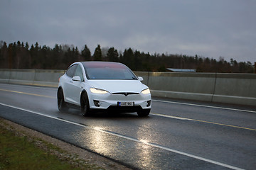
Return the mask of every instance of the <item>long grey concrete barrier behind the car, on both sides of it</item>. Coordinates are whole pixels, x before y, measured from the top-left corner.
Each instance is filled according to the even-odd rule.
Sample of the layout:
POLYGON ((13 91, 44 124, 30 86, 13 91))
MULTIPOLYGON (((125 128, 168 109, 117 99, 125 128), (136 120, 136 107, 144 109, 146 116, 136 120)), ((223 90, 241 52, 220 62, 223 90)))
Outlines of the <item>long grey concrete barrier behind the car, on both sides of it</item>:
MULTIPOLYGON (((58 86, 64 70, 0 69, 0 82, 58 86)), ((256 74, 134 72, 152 96, 256 106, 256 74)))

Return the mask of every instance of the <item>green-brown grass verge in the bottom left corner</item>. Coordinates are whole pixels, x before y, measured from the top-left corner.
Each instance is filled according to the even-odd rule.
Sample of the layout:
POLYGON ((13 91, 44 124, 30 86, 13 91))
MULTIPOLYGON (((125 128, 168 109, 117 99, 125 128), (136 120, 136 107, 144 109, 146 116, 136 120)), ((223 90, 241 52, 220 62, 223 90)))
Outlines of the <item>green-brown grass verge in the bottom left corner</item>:
MULTIPOLYGON (((1 122, 3 123, 3 122, 1 122)), ((41 139, 0 125, 0 169, 103 169, 41 139)))

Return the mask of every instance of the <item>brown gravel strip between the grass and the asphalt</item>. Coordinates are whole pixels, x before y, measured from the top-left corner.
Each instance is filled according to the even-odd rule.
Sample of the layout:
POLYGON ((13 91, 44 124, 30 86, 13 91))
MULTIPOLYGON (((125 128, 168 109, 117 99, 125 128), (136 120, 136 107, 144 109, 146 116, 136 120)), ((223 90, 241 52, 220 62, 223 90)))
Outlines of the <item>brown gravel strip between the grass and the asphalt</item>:
MULTIPOLYGON (((48 135, 44 135, 43 133, 37 132, 36 130, 31 130, 29 128, 23 127, 9 120, 0 118, 0 126, 8 130, 14 131, 16 135, 26 136, 28 137, 28 139, 32 140, 38 139, 38 141, 43 141, 51 145, 54 145, 55 147, 59 148, 64 152, 55 151, 51 152, 51 154, 55 154, 61 159, 70 160, 71 163, 73 163, 72 161, 76 162, 75 160, 79 159, 82 160, 82 162, 76 162, 76 164, 83 164, 83 162, 86 162, 86 164, 95 164, 104 169, 129 169, 126 166, 123 166, 122 164, 119 164, 117 162, 113 162, 112 160, 102 157, 99 154, 95 154, 85 149, 81 149, 80 147, 75 147, 74 145, 70 145, 66 142, 57 140, 48 135)), ((41 149, 48 149, 46 148, 46 145, 43 145, 43 142, 37 142, 37 146, 40 147, 41 149)))

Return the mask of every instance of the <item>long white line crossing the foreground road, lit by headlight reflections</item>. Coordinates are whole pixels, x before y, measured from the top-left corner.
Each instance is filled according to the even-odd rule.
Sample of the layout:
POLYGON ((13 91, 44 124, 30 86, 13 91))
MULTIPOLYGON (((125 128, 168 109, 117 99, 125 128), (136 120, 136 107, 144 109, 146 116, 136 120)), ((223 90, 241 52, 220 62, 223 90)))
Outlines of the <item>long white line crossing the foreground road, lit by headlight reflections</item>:
POLYGON ((164 150, 169 151, 169 152, 174 152, 176 154, 181 154, 181 155, 184 155, 184 156, 187 156, 187 157, 191 157, 191 158, 194 158, 194 159, 199 159, 201 161, 209 162, 211 164, 216 164, 216 165, 219 165, 219 166, 224 166, 224 167, 227 167, 227 168, 230 168, 230 169, 235 169, 235 170, 242 170, 241 168, 238 168, 236 166, 232 166, 232 165, 228 165, 228 164, 223 164, 221 162, 215 162, 215 161, 210 160, 210 159, 206 159, 206 158, 203 158, 203 157, 198 157, 198 156, 193 155, 193 154, 188 154, 186 152, 181 152, 181 151, 178 151, 176 149, 171 149, 169 147, 164 147, 164 146, 157 145, 157 144, 154 144, 154 143, 151 143, 151 142, 145 142, 144 140, 138 140, 138 139, 133 138, 133 137, 127 137, 125 135, 120 135, 120 134, 117 134, 115 132, 110 132, 110 131, 107 131, 107 130, 102 130, 102 129, 97 128, 97 127, 90 127, 90 126, 87 126, 87 125, 82 125, 80 123, 75 123, 75 122, 72 122, 70 120, 64 120, 64 119, 61 119, 61 118, 56 118, 56 117, 53 117, 53 116, 50 116, 50 115, 46 115, 44 113, 38 113, 36 111, 30 111, 28 109, 18 108, 16 106, 10 106, 10 105, 4 104, 4 103, 0 103, 0 104, 2 106, 7 106, 7 107, 10 107, 10 108, 16 108, 16 109, 21 110, 21 111, 26 111, 26 112, 29 112, 29 113, 34 113, 36 115, 45 116, 47 118, 53 118, 55 120, 60 120, 60 121, 63 121, 65 123, 70 123, 70 124, 73 124, 73 125, 78 125, 80 127, 87 128, 87 129, 90 129, 90 130, 97 130, 99 132, 103 132, 103 133, 108 134, 108 135, 113 135, 113 136, 116 136, 116 137, 121 137, 121 138, 126 139, 126 140, 131 140, 131 141, 134 141, 134 142, 139 142, 139 143, 142 143, 144 145, 149 145, 151 147, 156 147, 156 148, 159 148, 159 149, 164 149, 164 150))

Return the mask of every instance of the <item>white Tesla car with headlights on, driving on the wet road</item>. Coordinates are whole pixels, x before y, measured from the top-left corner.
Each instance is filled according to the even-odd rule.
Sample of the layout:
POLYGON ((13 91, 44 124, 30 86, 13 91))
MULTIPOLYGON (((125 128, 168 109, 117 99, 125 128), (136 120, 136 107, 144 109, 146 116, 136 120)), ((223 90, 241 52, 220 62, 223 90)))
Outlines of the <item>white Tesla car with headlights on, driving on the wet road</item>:
POLYGON ((60 77, 58 109, 78 106, 82 115, 93 111, 137 112, 147 116, 151 109, 149 87, 143 78, 117 62, 75 62, 60 77))

